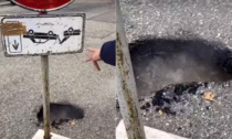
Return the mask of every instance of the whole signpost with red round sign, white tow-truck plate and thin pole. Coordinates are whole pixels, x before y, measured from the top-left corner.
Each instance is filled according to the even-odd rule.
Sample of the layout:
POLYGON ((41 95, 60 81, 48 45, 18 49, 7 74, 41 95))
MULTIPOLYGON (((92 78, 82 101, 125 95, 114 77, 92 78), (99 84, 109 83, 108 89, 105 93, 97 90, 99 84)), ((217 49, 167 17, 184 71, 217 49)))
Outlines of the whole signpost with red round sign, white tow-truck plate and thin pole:
POLYGON ((50 135, 49 55, 81 53, 84 44, 85 14, 46 14, 73 0, 13 0, 39 15, 6 15, 1 20, 6 56, 41 55, 43 78, 44 139, 50 135))

